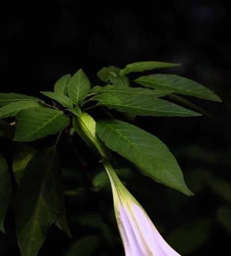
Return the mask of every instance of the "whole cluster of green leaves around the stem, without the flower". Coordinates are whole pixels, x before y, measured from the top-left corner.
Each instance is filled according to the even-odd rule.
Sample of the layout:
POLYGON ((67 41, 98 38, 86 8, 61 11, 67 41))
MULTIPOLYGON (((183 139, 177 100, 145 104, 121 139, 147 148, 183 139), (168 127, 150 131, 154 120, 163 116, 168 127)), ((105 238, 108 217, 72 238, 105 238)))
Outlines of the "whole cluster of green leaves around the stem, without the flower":
MULTIPOLYGON (((81 111, 98 106, 110 118, 112 115, 104 107, 122 112, 130 121, 134 120, 135 115, 193 117, 201 114, 160 98, 175 97, 181 102, 188 102, 176 95, 183 94, 221 101, 206 87, 181 76, 155 74, 141 76, 134 81, 127 76, 133 72, 178 65, 136 62, 124 69, 110 66, 97 73, 106 85, 95 87, 91 87, 83 70, 79 69, 73 76, 62 76, 55 83, 54 92, 41 92, 52 100, 53 105, 32 96, 0 94, 0 119, 15 117, 15 125, 7 120, 0 121, 0 133, 15 142, 12 170, 18 183, 15 198, 16 233, 22 256, 37 255, 52 224, 71 236, 56 152, 61 131, 70 127, 71 117, 81 118, 81 111), (59 135, 55 145, 40 152, 24 143, 56 133, 59 135)), ((184 194, 192 194, 176 159, 154 135, 129 122, 113 118, 97 120, 96 132, 110 150, 134 163, 142 174, 184 194)), ((0 230, 3 232, 10 193, 8 165, 4 156, 0 155, 0 230)))

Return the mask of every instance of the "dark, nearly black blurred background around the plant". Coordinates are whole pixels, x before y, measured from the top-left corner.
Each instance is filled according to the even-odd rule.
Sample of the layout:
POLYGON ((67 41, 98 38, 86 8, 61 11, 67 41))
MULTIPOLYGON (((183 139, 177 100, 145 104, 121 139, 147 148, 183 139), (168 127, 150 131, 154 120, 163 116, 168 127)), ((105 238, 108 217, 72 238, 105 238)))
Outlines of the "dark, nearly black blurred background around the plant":
MULTIPOLYGON (((1 92, 39 96, 39 91, 52 91, 61 75, 73 75, 79 68, 85 71, 92 85, 97 85, 101 82, 96 73, 103 66, 123 68, 131 62, 154 60, 181 62, 182 67, 158 72, 199 81, 220 96, 223 103, 187 98, 212 112, 221 119, 219 122, 206 116, 138 117, 134 122, 167 144, 195 196, 186 198, 142 177, 136 170, 123 178, 163 236, 182 255, 188 256, 220 255, 230 251, 231 20, 229 6, 225 3, 224 0, 85 1, 84 4, 37 1, 9 2, 1 8, 1 92)), ((101 113, 97 115, 101 117, 101 113)), ((75 140, 81 154, 88 154, 84 144, 78 138, 75 140)), ((37 147, 53 141, 54 137, 42 140, 37 147)), ((74 155, 65 137, 61 138, 58 150, 66 188, 82 187, 81 180, 75 176, 74 155)), ((94 175, 92 157, 89 153, 86 161, 94 175)), ((118 161, 127 165, 121 159, 118 161)), ((78 219, 98 212, 98 201, 92 197, 91 193, 85 197, 80 195, 80 199, 67 197, 73 239, 52 227, 40 256, 48 254, 51 248, 54 255, 63 255, 75 240, 99 233, 96 227, 79 224, 78 219)), ((112 210, 111 195, 102 191, 99 197, 103 198, 106 211, 112 210)), ((19 255, 13 214, 12 198, 6 218, 8 234, 0 234, 2 255, 19 255)), ((117 237, 116 231, 112 232, 117 237)), ((103 246, 99 247, 99 252, 105 247, 105 255, 122 253, 116 238, 106 245, 104 238, 100 237, 103 246)))

